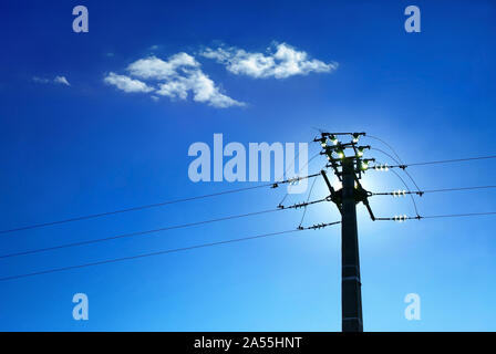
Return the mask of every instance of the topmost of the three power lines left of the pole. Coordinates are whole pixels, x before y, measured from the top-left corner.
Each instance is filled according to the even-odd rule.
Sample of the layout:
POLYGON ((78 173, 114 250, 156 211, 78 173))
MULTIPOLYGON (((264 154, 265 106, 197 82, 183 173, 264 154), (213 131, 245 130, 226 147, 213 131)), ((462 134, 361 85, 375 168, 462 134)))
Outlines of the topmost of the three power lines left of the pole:
POLYGON ((251 189, 258 189, 258 188, 265 188, 265 187, 275 187, 276 185, 289 184, 289 183, 293 183, 293 181, 297 181, 297 180, 302 180, 302 179, 307 179, 307 178, 313 178, 313 177, 319 176, 319 175, 320 174, 313 174, 313 175, 309 175, 309 176, 304 176, 304 177, 289 178, 289 179, 286 179, 286 180, 282 180, 282 181, 279 181, 279 183, 276 183, 276 184, 265 184, 265 185, 254 186, 254 187, 237 188, 237 189, 225 190, 225 191, 219 191, 219 192, 213 192, 213 194, 203 195, 203 196, 167 200, 167 201, 149 204, 149 205, 138 206, 138 207, 132 207, 132 208, 126 208, 126 209, 120 209, 120 210, 114 210, 114 211, 106 211, 106 212, 100 212, 100 214, 91 214, 91 215, 85 215, 85 216, 79 216, 79 217, 63 219, 63 220, 58 220, 58 221, 33 223, 33 225, 29 225, 29 226, 19 227, 19 228, 0 230, 0 235, 11 233, 11 232, 17 232, 17 231, 31 230, 31 229, 38 229, 38 228, 44 228, 44 227, 49 227, 49 226, 68 223, 68 222, 74 222, 74 221, 81 221, 81 220, 87 220, 87 219, 102 218, 102 217, 116 215, 116 214, 124 214, 124 212, 130 212, 130 211, 137 211, 137 210, 157 208, 157 207, 163 207, 163 206, 166 206, 166 205, 173 205, 173 204, 178 204, 178 202, 205 199, 205 198, 217 197, 217 196, 223 196, 223 195, 229 195, 229 194, 235 194, 235 192, 240 192, 240 191, 246 191, 246 190, 251 190, 251 189))

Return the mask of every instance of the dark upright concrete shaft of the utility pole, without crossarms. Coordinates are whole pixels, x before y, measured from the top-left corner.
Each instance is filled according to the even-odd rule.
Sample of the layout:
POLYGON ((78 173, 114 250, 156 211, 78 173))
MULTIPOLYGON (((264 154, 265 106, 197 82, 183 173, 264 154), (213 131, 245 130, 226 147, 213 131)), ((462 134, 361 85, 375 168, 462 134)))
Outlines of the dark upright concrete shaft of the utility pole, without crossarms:
POLYGON ((342 331, 363 332, 354 162, 342 162, 341 310, 342 331))

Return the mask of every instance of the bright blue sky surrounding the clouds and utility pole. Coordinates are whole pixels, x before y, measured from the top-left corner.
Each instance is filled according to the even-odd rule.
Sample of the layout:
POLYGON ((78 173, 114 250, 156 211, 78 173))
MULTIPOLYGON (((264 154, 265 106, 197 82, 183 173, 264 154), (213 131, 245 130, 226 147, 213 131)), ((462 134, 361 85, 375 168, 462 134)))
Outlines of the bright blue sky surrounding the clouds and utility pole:
MULTIPOLYGON (((0 13, 1 229, 254 185, 189 180, 189 145, 213 144, 215 133, 247 145, 308 142, 313 127, 364 131, 410 163, 495 152, 492 1, 3 1, 0 13), (89 9, 89 33, 72 31, 78 4, 89 9), (421 33, 403 28, 409 4, 421 9, 421 33), (314 65, 281 77, 277 65, 255 74, 202 55, 224 48, 230 63, 241 50, 270 61, 281 43, 314 65), (126 70, 178 53, 197 62, 187 79, 126 70), (111 73, 183 88, 174 98, 156 88, 124 92, 105 82, 111 73), (203 75, 207 86, 190 79, 205 84, 203 75), (207 88, 214 94, 200 98, 207 88), (220 107, 218 95, 242 105, 220 107)), ((410 171, 431 189, 493 185, 495 167, 410 171)), ((403 188, 394 175, 372 171, 363 185, 403 188)), ((320 179, 313 192, 326 195, 320 179)), ((282 196, 246 191, 3 235, 1 253, 270 209, 282 196)), ((371 204, 380 216, 413 214, 407 199, 371 204)), ((490 190, 426 195, 417 205, 421 215, 496 210, 490 190)), ((285 211, 3 259, 0 277, 281 231, 300 217, 285 211)), ((338 219, 320 204, 306 222, 338 219)), ((374 223, 359 206, 359 219, 365 331, 496 330, 493 217, 374 223), (404 317, 407 293, 422 299, 421 321, 404 317)), ((339 235, 335 227, 2 282, 0 330, 339 331, 339 235), (78 292, 90 299, 85 322, 72 319, 78 292)))

